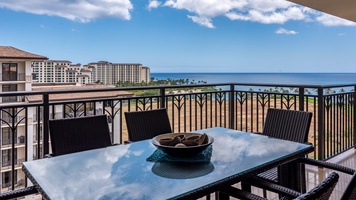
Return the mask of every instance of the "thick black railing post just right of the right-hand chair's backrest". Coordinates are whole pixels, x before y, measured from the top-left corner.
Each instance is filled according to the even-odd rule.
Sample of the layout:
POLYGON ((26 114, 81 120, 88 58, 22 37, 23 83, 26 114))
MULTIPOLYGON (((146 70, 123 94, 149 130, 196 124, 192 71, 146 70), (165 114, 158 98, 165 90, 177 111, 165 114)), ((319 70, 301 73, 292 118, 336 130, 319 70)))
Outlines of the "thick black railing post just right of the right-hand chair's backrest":
POLYGON ((318 88, 318 160, 325 158, 324 89, 318 88))

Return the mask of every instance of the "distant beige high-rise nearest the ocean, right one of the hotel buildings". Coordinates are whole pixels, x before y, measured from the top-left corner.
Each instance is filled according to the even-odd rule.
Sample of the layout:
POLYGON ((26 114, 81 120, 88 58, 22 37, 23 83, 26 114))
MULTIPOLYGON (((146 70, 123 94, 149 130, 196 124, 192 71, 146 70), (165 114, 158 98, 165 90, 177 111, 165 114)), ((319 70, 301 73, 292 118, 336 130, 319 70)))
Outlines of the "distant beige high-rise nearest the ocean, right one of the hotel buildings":
POLYGON ((117 83, 150 82, 150 68, 139 63, 110 63, 99 61, 89 63, 83 67, 92 70, 93 82, 105 85, 115 85, 117 83))

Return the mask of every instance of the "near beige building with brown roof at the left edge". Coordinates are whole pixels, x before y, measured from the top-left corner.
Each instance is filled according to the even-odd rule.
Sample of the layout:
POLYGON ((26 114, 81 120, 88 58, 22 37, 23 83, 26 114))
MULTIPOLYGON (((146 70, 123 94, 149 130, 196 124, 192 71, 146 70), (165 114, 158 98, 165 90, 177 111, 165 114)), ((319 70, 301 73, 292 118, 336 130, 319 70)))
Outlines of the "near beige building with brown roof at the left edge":
MULTIPOLYGON (((0 46, 0 90, 4 92, 14 92, 14 91, 31 91, 32 90, 32 62, 42 62, 47 60, 45 56, 40 56, 37 54, 29 53, 11 46, 0 46)), ((11 104, 16 105, 23 103, 24 98, 19 96, 9 96, 0 98, 0 104, 11 104)), ((33 151, 31 148, 34 143, 32 139, 33 126, 29 125, 28 129, 28 139, 27 142, 31 141, 29 145, 27 155, 25 151, 25 123, 21 123, 20 119, 28 119, 28 121, 33 121, 32 109, 28 110, 27 116, 25 116, 25 111, 21 109, 0 109, 0 137, 1 137, 1 165, 0 165, 0 178, 1 178, 1 190, 6 190, 11 182, 15 182, 16 185, 21 185, 24 183, 24 174, 21 170, 22 162, 27 158, 32 158, 33 151), (12 118, 10 115, 12 112, 16 112, 16 117, 12 118), (14 121, 17 124, 17 131, 13 135, 13 131, 9 124, 6 122, 14 121), (31 137, 30 137, 31 135, 31 137), (13 139, 15 138, 15 139, 13 139), (15 150, 12 150, 12 144, 15 145, 15 150), (12 176, 12 157, 15 157, 15 173, 12 176)))

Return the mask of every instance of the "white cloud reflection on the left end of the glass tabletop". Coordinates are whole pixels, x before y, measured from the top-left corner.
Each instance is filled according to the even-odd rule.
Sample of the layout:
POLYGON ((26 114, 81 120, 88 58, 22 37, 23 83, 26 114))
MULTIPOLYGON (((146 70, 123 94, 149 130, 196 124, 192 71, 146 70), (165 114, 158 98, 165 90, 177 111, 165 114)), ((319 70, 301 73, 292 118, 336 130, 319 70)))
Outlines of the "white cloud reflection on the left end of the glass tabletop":
POLYGON ((128 146, 122 145, 120 151, 114 148, 47 158, 33 163, 31 167, 45 177, 38 180, 40 185, 60 185, 63 188, 62 191, 47 191, 53 199, 98 199, 106 193, 105 188, 110 190, 113 186, 112 181, 108 179, 112 165, 128 152, 128 146), (98 157, 104 159, 98 162, 98 157), (67 177, 58 178, 56 171, 66 174, 67 177), (83 179, 83 176, 86 178, 83 179))

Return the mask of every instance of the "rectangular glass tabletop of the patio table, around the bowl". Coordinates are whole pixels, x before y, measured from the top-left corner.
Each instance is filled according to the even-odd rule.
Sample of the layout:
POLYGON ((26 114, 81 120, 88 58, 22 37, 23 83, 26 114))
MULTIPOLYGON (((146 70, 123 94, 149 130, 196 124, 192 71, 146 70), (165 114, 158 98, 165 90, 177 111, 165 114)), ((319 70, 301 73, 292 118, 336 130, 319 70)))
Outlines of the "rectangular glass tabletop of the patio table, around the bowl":
POLYGON ((23 163, 44 199, 198 198, 314 150, 312 145, 209 128, 208 162, 150 162, 150 140, 23 163))

